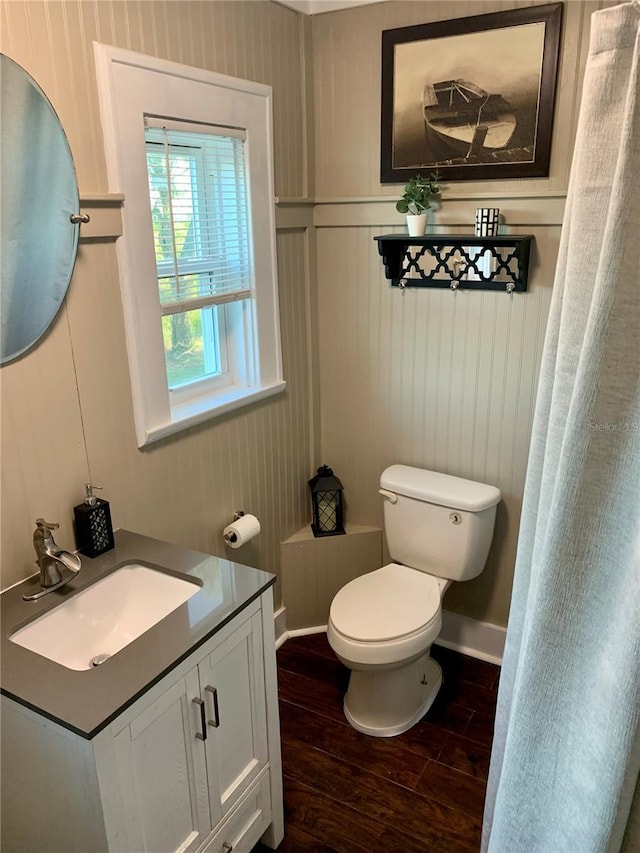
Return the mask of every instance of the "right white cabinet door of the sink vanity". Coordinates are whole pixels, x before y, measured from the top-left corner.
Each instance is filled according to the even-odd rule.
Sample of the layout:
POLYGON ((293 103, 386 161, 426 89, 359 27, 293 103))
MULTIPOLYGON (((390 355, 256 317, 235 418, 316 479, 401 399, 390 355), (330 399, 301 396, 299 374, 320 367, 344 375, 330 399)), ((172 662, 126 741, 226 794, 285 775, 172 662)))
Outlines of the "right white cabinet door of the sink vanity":
POLYGON ((262 620, 257 613, 198 665, 213 825, 267 764, 262 620))

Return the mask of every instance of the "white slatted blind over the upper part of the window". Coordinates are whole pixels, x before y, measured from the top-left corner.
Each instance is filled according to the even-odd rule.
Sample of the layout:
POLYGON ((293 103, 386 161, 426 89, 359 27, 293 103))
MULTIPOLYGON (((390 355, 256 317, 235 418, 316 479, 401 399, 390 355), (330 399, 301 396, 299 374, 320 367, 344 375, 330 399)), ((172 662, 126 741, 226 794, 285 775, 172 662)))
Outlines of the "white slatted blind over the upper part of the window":
POLYGON ((250 298, 244 132, 177 129, 150 117, 145 124, 162 314, 250 298))

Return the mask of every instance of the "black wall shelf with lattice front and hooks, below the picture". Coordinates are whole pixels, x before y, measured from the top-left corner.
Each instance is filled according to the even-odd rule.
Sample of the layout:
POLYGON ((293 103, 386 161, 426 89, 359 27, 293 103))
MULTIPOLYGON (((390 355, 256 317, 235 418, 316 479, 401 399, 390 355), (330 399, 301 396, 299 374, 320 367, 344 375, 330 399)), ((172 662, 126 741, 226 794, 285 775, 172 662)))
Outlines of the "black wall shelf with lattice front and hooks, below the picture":
POLYGON ((522 292, 529 278, 533 237, 475 237, 464 234, 384 234, 378 243, 386 277, 393 287, 446 287, 451 290, 522 292))

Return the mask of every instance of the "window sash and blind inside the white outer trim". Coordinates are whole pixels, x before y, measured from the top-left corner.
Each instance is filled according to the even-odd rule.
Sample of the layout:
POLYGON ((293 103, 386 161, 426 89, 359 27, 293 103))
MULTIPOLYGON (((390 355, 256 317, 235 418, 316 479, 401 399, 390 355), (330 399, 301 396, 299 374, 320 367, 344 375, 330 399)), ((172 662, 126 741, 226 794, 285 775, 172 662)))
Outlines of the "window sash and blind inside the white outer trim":
POLYGON ((253 362, 245 134, 170 129, 150 118, 145 124, 169 390, 242 384, 253 362))

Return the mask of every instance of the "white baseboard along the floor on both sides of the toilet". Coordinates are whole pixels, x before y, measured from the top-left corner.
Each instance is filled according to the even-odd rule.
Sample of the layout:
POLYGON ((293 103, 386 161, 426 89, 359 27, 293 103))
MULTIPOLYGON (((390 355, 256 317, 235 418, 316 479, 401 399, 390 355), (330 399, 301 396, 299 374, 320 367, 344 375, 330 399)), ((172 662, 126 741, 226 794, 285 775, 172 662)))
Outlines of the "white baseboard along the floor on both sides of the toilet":
MULTIPOLYGON (((274 614, 276 649, 289 637, 305 637, 308 634, 326 632, 326 625, 314 625, 310 628, 295 628, 287 631, 287 608, 281 607, 274 614)), ((480 622, 449 610, 442 611, 442 630, 436 640, 436 645, 453 649, 464 655, 489 663, 502 664, 504 641, 507 629, 490 622, 480 622)))

